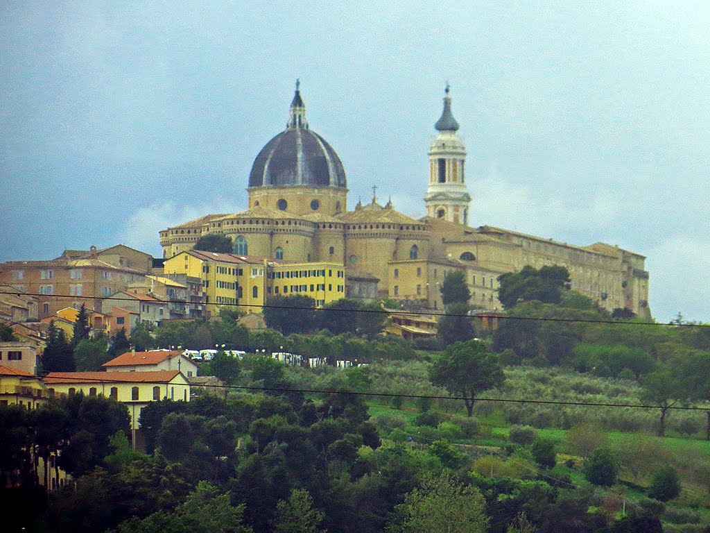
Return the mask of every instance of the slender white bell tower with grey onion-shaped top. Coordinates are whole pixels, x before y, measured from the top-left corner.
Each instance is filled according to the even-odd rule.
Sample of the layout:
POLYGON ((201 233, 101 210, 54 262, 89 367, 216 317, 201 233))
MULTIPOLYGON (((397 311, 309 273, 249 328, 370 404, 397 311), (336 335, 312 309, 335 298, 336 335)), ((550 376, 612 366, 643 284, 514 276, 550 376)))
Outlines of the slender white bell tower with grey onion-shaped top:
POLYGON ((451 112, 450 91, 447 83, 442 116, 434 126, 439 133, 429 147, 429 185, 424 201, 428 217, 468 225, 471 195, 466 189, 466 148, 457 134, 459 123, 451 112))

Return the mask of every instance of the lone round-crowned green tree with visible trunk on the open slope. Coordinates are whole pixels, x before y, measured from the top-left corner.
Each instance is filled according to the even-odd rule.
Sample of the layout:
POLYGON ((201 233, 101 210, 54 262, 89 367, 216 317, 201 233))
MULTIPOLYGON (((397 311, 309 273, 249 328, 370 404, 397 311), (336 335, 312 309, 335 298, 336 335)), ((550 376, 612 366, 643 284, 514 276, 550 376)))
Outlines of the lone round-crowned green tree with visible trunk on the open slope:
POLYGON ((474 414, 476 394, 500 387, 505 380, 498 357, 478 340, 447 346, 430 367, 430 379, 464 398, 469 416, 474 414))

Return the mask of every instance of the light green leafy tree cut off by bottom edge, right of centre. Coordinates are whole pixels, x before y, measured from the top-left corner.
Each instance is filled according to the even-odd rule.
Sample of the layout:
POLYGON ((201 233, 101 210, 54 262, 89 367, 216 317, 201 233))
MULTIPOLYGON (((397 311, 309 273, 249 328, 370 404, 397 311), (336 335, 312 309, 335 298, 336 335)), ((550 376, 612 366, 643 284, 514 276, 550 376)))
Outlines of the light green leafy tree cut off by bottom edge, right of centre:
POLYGON ((475 487, 464 487, 450 473, 427 476, 395 508, 391 533, 477 533, 486 531, 486 502, 475 487))

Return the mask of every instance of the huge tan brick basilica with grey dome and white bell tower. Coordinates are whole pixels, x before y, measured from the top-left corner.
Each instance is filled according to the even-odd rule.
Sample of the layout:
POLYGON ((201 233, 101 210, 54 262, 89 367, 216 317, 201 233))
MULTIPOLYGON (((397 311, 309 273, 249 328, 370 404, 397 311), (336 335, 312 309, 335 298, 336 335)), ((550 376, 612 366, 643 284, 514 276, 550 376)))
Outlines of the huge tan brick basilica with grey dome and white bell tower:
POLYGON ((298 84, 288 124, 254 159, 249 208, 204 215, 160 232, 163 257, 192 248, 202 235, 229 237, 234 253, 278 263, 334 263, 344 267, 346 296, 388 297, 420 308, 441 309, 444 276, 459 270, 477 310, 499 310, 497 278, 525 265, 557 264, 569 270, 572 288, 603 308, 626 308, 650 318, 645 257, 596 242, 573 246, 499 227, 469 227, 466 148, 457 134, 447 86, 436 135, 429 147, 424 202, 415 219, 391 202, 357 203, 349 210, 342 161, 310 129, 298 84), (371 290, 368 290, 368 285, 371 290))

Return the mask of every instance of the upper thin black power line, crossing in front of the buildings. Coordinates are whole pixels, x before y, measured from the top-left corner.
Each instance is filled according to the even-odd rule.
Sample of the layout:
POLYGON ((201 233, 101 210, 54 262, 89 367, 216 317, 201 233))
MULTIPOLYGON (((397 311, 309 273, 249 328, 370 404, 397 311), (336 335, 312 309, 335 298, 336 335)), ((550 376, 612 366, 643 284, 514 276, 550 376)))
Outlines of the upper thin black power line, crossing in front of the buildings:
MULTIPOLYGON (((23 293, 23 292, 4 292, 2 294, 11 294, 13 296, 43 296, 50 298, 63 298, 67 300, 111 300, 111 301, 134 301, 134 298, 119 298, 116 296, 72 296, 71 294, 38 294, 38 293, 23 293)), ((334 313, 379 313, 379 314, 398 314, 398 315, 408 315, 408 316, 455 316, 464 318, 497 318, 498 320, 511 320, 511 321, 536 321, 536 322, 560 322, 560 323, 587 323, 587 324, 611 324, 611 325, 655 325, 655 326, 678 326, 684 328, 710 328, 710 324, 695 324, 695 323, 660 323, 660 322, 640 322, 640 321, 615 321, 611 319, 600 319, 595 320, 593 318, 553 318, 553 317, 531 317, 531 316, 501 316, 501 311, 481 311, 481 314, 471 316, 469 314, 463 313, 432 313, 429 311, 406 311, 402 310, 390 310, 390 309, 334 309, 334 308, 318 308, 318 307, 305 307, 305 306, 277 306, 271 303, 216 303, 216 302, 188 302, 183 300, 158 300, 160 303, 180 303, 184 305, 196 304, 200 306, 215 306, 215 307, 227 307, 227 308, 259 308, 259 309, 291 309, 300 311, 317 311, 319 313, 329 311, 334 313), (491 313, 491 314, 486 314, 491 313)), ((435 310, 437 311, 437 310, 435 310)))

